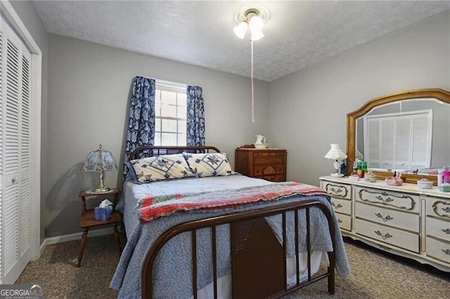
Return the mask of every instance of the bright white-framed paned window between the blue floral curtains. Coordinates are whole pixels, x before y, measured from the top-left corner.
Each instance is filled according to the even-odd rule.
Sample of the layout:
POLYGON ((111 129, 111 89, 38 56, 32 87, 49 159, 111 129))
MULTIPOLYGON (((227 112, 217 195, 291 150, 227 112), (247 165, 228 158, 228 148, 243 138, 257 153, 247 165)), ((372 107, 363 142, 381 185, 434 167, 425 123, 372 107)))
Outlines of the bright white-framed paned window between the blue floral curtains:
POLYGON ((186 145, 186 86, 156 81, 155 145, 186 145))

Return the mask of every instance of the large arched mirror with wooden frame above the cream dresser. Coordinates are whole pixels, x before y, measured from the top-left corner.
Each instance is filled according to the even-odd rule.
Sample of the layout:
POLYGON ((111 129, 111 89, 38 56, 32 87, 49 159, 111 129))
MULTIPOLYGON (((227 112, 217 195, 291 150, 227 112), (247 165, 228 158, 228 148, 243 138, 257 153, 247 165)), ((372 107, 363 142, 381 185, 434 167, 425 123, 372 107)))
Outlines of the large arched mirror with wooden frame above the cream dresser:
MULTIPOLYGON (((392 163, 387 163, 386 161, 377 161, 376 163, 369 162, 369 168, 373 168, 373 170, 377 171, 377 173, 385 173, 385 176, 391 175, 390 172, 392 169, 395 170, 404 170, 404 171, 412 171, 416 169, 425 169, 425 168, 442 168, 442 166, 447 166, 450 164, 450 135, 448 132, 449 124, 450 124, 450 93, 449 91, 444 91, 439 88, 428 88, 428 89, 418 89, 414 91, 406 91, 403 93, 395 93, 392 95, 386 95, 380 98, 375 98, 366 102, 361 108, 357 109, 354 112, 347 114, 347 175, 352 173, 352 165, 355 161, 355 158, 361 154, 361 156, 365 156, 370 152, 370 147, 368 145, 373 145, 372 143, 368 143, 368 140, 364 140, 364 130, 366 130, 366 136, 373 137, 373 132, 378 134, 382 131, 381 128, 378 128, 378 121, 383 125, 382 121, 386 119, 390 119, 390 121, 385 121, 385 124, 393 124, 392 119, 395 117, 399 117, 398 119, 408 118, 406 115, 420 114, 421 120, 419 121, 422 126, 419 128, 419 133, 409 133, 411 134, 411 138, 414 136, 425 136, 423 138, 414 137, 416 140, 411 141, 414 143, 415 148, 417 146, 427 149, 422 153, 420 150, 420 163, 418 161, 409 161, 409 162, 398 162, 395 165, 392 163), (412 112, 413 111, 413 112, 412 112), (427 114, 428 113, 428 114, 427 114), (383 114, 384 119, 380 117, 383 114), (425 115, 425 117, 424 117, 425 115), (371 128, 370 121, 373 120, 373 123, 377 123, 376 126, 372 126, 373 128, 370 130, 371 133, 368 133, 369 128, 371 128), (428 123, 426 122, 428 121, 428 123), (366 127, 364 127, 366 125, 366 127), (375 128, 375 131, 373 129, 375 128), (428 131, 427 131, 428 130, 428 131), (425 131, 425 133, 423 133, 425 131), (423 135, 423 134, 425 135, 423 135), (420 140, 419 140, 420 139, 420 140), (419 143, 422 142, 422 143, 419 143), (368 147, 365 149, 365 147, 368 147), (365 151, 366 150, 366 151, 365 151)), ((414 116, 416 117, 416 116, 414 116)), ((404 120, 403 120, 404 124, 404 120)), ((411 123, 412 124, 412 123, 411 123)), ((380 125, 380 127, 382 126, 380 125)), ((385 128, 390 128, 394 126, 385 126, 385 128)), ((397 128, 397 123, 395 128, 397 128)), ((416 127, 415 127, 416 128, 416 127)), ((406 131, 409 129, 412 130, 409 126, 406 126, 406 131)), ((392 130, 388 129, 385 136, 388 136, 392 130)), ((416 130, 416 132, 418 132, 416 130)), ((412 132, 412 131, 411 131, 412 132)), ((382 133, 380 133, 382 136, 382 133)), ((389 137, 389 136, 388 136, 389 137)), ((378 135, 375 138, 377 139, 378 135)), ((381 138, 381 137, 380 137, 381 138)), ((383 142, 381 142, 383 143, 383 142)), ((386 143, 386 142, 385 142, 386 143)), ((401 147, 396 147, 396 155, 401 156, 401 147)), ((385 151, 385 148, 380 148, 380 152, 385 151)), ((389 149, 392 150, 392 149, 389 149)), ((411 149, 409 149, 411 151, 411 149)), ((405 151, 408 151, 406 149, 405 151)), ((373 150, 372 152, 375 152, 373 150)), ((389 151, 388 151, 389 152, 389 151)), ((416 153, 418 151, 416 150, 416 153)), ((375 154, 376 156, 376 154, 375 154)), ((373 154, 372 154, 372 157, 373 154)), ((361 159, 361 158, 360 158, 361 159)), ((397 158, 399 159, 399 158, 397 158)), ((366 160, 366 159, 365 159, 366 160)), ((372 161, 374 161, 372 159, 372 161)), ((383 176, 383 175, 382 175, 383 176)), ((407 175, 408 180, 412 180, 412 182, 416 182, 415 179, 422 178, 420 175, 414 177, 414 175, 407 175)), ((403 176, 402 176, 403 178, 403 176)), ((406 180, 407 181, 407 180, 406 180)))

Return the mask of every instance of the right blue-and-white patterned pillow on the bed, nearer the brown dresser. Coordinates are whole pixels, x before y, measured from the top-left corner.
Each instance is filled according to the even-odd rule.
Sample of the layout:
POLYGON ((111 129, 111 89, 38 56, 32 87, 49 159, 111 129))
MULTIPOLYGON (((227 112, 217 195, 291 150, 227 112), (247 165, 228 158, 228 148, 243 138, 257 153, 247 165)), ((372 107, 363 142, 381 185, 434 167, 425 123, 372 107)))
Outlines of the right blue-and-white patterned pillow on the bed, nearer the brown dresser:
POLYGON ((235 172, 231 170, 228 157, 224 152, 208 154, 191 154, 183 152, 183 156, 188 161, 189 167, 199 178, 207 176, 231 175, 235 172))

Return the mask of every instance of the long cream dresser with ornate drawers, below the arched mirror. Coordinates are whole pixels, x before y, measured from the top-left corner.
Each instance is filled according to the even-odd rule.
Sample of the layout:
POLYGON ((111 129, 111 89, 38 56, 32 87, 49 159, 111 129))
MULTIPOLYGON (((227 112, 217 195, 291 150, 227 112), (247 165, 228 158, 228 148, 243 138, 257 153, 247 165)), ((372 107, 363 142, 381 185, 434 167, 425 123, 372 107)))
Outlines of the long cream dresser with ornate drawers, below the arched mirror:
POLYGON ((450 272, 450 192, 323 176, 342 235, 450 272))

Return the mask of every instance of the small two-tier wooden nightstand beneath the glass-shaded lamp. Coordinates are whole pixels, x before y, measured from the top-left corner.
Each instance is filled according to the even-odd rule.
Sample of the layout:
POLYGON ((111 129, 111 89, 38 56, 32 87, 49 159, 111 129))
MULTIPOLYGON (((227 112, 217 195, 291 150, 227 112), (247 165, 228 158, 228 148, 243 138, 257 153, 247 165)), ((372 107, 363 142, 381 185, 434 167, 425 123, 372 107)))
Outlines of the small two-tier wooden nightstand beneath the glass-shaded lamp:
POLYGON ((110 195, 114 196, 113 200, 113 207, 115 208, 117 201, 119 201, 119 194, 120 190, 118 188, 111 189, 107 192, 89 192, 89 191, 82 191, 79 192, 79 197, 82 199, 82 216, 79 218, 79 227, 83 229, 83 236, 82 236, 82 242, 79 245, 79 251, 78 251, 78 265, 77 267, 81 266, 82 258, 83 258, 83 251, 84 246, 86 245, 87 241, 87 233, 89 232, 89 227, 96 227, 100 225, 113 225, 114 229, 114 236, 115 240, 117 242, 117 247, 120 251, 122 251, 122 246, 120 245, 120 237, 119 232, 117 230, 117 224, 122 222, 122 214, 118 211, 115 211, 113 209, 113 213, 111 213, 111 217, 107 220, 95 220, 94 218, 94 209, 86 209, 86 198, 89 197, 105 197, 107 198, 110 195))

